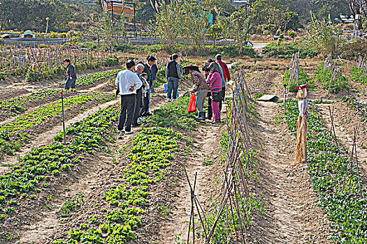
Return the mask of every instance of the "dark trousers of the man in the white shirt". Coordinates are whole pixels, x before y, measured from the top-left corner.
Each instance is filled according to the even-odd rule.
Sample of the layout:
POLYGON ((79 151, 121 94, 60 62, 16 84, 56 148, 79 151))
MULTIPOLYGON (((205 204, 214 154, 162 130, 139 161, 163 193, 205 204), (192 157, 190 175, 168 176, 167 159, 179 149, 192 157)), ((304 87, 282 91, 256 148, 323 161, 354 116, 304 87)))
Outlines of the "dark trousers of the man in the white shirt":
POLYGON ((134 120, 135 112, 135 94, 122 95, 121 96, 121 113, 119 119, 118 130, 131 131, 131 124, 134 120))

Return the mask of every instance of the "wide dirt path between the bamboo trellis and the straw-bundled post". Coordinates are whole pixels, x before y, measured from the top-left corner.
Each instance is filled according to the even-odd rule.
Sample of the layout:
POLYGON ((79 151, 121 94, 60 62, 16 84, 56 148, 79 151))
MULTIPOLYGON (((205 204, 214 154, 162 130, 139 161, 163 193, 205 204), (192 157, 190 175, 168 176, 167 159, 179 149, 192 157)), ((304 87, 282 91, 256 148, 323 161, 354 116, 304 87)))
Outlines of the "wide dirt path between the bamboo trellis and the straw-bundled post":
POLYGON ((250 240, 253 243, 308 243, 312 237, 329 243, 324 215, 315 204, 306 165, 290 167, 294 156, 294 135, 285 123, 276 121, 280 108, 273 102, 259 102, 259 119, 254 128, 255 144, 264 144, 260 152, 259 182, 254 192, 262 192, 268 211, 263 220, 255 220, 250 240))

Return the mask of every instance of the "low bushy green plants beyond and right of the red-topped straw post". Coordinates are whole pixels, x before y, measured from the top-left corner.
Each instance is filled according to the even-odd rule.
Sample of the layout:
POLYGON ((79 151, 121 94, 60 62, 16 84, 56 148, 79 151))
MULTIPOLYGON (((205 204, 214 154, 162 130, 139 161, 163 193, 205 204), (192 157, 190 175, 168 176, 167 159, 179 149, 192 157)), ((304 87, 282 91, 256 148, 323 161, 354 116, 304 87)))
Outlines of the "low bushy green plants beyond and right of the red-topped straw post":
POLYGON ((324 66, 317 66, 317 70, 315 71, 315 79, 319 84, 321 84, 322 88, 329 91, 330 93, 338 93, 342 89, 350 88, 350 84, 347 82, 347 78, 344 75, 340 74, 340 80, 338 77, 331 79, 333 76, 332 70, 326 69, 324 70, 324 66))

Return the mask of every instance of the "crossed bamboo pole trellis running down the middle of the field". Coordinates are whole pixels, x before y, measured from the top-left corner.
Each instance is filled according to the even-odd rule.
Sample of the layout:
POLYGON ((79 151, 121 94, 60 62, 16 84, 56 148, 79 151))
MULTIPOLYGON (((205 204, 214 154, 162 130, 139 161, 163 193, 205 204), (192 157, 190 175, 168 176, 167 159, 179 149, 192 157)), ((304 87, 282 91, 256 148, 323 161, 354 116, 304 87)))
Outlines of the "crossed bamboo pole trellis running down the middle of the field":
MULTIPOLYGON (((250 151, 250 134, 247 125, 247 102, 252 101, 250 92, 245 82, 245 73, 240 71, 235 75, 235 86, 231 99, 231 108, 227 109, 230 114, 227 121, 226 130, 229 134, 229 144, 226 151, 226 163, 224 167, 224 177, 222 183, 222 194, 220 207, 215 216, 213 224, 209 224, 206 215, 201 208, 199 201, 195 195, 195 182, 192 188, 189 182, 192 196, 192 211, 190 213, 189 232, 187 235, 187 243, 189 243, 189 233, 192 230, 192 243, 195 243, 195 227, 194 227, 194 206, 199 216, 199 220, 203 227, 206 238, 206 244, 209 244, 220 218, 225 216, 226 222, 226 241, 223 243, 247 244, 247 231, 250 228, 250 191, 249 191, 249 169, 251 166, 249 160, 250 151), (236 217, 235 217, 236 216, 236 217), (210 226, 211 225, 211 226, 210 226), (191 228, 192 226, 192 228, 191 228), (231 229, 234 227, 234 233, 231 229)), ((189 178, 187 177, 187 181, 189 178)))

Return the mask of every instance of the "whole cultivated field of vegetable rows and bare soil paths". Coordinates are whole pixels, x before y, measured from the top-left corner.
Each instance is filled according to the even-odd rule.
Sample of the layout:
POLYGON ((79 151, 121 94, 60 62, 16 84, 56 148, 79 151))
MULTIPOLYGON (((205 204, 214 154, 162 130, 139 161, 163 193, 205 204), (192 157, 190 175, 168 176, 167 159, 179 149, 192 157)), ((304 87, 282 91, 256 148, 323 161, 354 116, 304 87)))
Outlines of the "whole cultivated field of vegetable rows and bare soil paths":
MULTIPOLYGON (((167 102, 159 84, 151 100, 153 115, 132 135, 117 135, 120 100, 114 80, 120 66, 79 77, 76 93, 63 91, 63 84, 55 81, 2 89, 0 243, 186 243, 192 195, 185 171, 191 183, 196 178, 194 195, 207 218, 203 224, 199 215, 194 217, 195 243, 205 243, 203 228, 213 227, 222 202, 233 142, 229 122, 236 116, 237 98, 246 102, 245 117, 239 121, 246 121, 250 146, 245 155, 238 154, 248 160, 241 161, 246 165, 240 171, 246 183, 240 176, 233 180, 238 183, 236 193, 229 194, 233 207, 223 208, 213 243, 241 243, 242 238, 246 243, 364 243, 366 84, 348 77, 350 87, 332 93, 315 75, 322 60, 300 60, 307 63, 303 75, 313 81, 309 154, 307 163, 292 167, 296 94, 289 92, 286 116, 282 102, 290 61, 257 54, 255 64, 249 57, 226 58, 240 63, 231 73, 248 92, 236 93, 240 82, 228 86, 224 123, 219 125, 199 123, 188 114, 188 96, 167 102), (262 94, 280 99, 255 100, 262 94), (336 138, 330 135, 329 107, 336 138), (357 127, 359 165, 350 158, 357 127), (248 191, 244 199, 238 197, 243 196, 242 187, 248 191)), ((128 56, 120 54, 120 61, 128 56)), ((206 60, 182 57, 182 63, 206 60)), ((184 78, 180 95, 191 87, 189 77, 184 78)))

